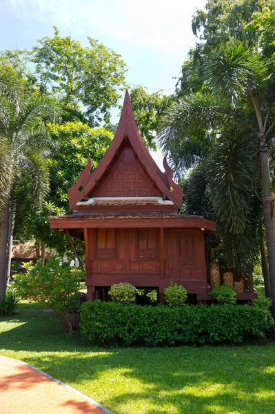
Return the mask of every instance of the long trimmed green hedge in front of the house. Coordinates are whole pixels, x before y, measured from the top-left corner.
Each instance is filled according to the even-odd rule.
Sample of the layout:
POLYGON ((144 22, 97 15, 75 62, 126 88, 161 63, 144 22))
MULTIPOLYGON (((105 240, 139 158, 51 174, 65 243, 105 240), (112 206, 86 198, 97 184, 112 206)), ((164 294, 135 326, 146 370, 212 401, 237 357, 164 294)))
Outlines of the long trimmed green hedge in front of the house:
POLYGON ((248 305, 138 306, 86 302, 81 333, 94 343, 124 346, 239 344, 265 337, 274 325, 271 314, 248 305))

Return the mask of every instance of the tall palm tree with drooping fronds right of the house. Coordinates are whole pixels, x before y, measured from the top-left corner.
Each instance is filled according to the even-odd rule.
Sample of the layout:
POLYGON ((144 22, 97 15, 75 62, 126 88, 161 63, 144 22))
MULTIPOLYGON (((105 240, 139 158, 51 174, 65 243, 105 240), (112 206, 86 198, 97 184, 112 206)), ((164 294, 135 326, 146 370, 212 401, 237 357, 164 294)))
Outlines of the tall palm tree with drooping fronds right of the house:
POLYGON ((217 160, 212 163, 215 168, 210 164, 208 174, 210 181, 212 179, 218 185, 214 204, 223 219, 232 219, 233 234, 242 228, 245 230, 247 219, 253 214, 247 197, 249 188, 254 187, 257 162, 261 165, 263 215, 275 313, 275 217, 269 171, 269 148, 275 126, 273 86, 274 78, 265 70, 258 52, 242 43, 227 44, 205 63, 203 90, 175 101, 167 109, 161 121, 159 141, 164 150, 172 154, 183 137, 194 134, 198 127, 216 134, 216 154, 224 150, 232 134, 236 137, 235 150, 240 140, 247 141, 241 146, 235 166, 237 175, 232 175, 231 170, 222 170, 217 160), (252 160, 255 171, 251 169, 252 160), (238 188, 237 193, 234 186, 238 188), (225 203, 223 197, 229 202, 225 203))

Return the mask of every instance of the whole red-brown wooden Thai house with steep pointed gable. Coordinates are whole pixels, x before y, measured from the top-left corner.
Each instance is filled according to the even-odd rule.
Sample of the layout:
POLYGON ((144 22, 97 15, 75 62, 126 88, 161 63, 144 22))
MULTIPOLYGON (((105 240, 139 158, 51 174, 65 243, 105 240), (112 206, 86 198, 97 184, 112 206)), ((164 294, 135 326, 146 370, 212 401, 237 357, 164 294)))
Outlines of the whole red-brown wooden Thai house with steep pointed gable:
POLYGON ((166 157, 162 172, 143 144, 128 92, 110 148, 92 173, 91 166, 89 159, 68 190, 73 214, 50 218, 51 228, 85 242, 88 300, 129 282, 156 288, 163 303, 171 279, 187 288, 193 302, 209 300, 205 237, 216 224, 179 214, 183 189, 166 157))

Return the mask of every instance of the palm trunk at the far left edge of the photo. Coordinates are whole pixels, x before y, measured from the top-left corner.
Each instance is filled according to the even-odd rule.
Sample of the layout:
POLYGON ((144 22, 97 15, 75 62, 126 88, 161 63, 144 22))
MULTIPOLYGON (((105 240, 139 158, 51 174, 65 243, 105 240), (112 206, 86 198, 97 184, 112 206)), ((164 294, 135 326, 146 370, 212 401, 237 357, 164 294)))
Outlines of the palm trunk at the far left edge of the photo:
POLYGON ((3 204, 1 214, 1 235, 0 235, 0 300, 6 293, 6 268, 7 268, 7 248, 8 248, 8 228, 10 220, 10 197, 3 204))

